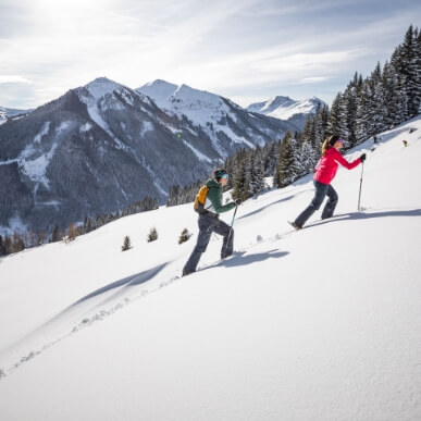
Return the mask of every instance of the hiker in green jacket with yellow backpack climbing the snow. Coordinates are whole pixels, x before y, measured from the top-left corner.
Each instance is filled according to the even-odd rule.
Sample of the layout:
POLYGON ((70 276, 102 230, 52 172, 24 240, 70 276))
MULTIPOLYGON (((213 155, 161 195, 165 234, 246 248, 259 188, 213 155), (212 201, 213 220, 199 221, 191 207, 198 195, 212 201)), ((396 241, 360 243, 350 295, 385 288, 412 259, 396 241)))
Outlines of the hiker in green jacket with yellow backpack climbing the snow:
POLYGON ((183 276, 196 272, 196 267, 199 263, 201 253, 205 252, 208 247, 212 233, 216 233, 224 237, 221 249, 221 259, 225 259, 233 253, 233 227, 225 222, 220 221, 219 214, 234 209, 236 206, 240 205, 242 201, 237 199, 235 202, 222 205, 222 187, 225 186, 227 182, 228 174, 224 169, 214 170, 213 177, 209 178, 206 186, 199 191, 199 195, 205 196, 206 194, 203 202, 198 202, 198 198, 196 198, 195 210, 199 213, 199 235, 191 256, 183 269, 183 276))

